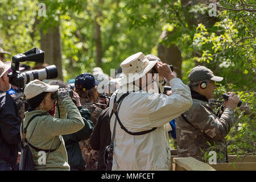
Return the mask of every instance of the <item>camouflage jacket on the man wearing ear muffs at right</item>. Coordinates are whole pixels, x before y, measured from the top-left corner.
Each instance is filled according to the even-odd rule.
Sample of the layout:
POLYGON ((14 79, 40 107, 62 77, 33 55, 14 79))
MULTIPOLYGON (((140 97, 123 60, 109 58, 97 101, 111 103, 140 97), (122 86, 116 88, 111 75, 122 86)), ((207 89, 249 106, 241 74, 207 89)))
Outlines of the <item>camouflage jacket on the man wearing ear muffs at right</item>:
POLYGON ((233 126, 234 111, 225 109, 218 119, 208 102, 193 98, 193 105, 183 114, 188 122, 181 116, 176 119, 178 157, 191 156, 204 162, 204 152, 216 151, 217 162, 227 160, 225 137, 233 126))

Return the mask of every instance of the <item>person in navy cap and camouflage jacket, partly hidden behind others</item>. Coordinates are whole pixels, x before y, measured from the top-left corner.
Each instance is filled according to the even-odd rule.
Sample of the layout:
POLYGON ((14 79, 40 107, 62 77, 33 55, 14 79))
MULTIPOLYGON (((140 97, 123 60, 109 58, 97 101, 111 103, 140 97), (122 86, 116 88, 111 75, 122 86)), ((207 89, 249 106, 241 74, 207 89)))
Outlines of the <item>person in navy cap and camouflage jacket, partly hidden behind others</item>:
MULTIPOLYGON (((102 110, 106 109, 105 104, 96 103, 98 97, 97 85, 98 82, 89 73, 82 73, 75 80, 76 92, 79 94, 81 105, 90 111, 94 126, 102 110)), ((98 151, 92 150, 89 139, 80 141, 79 146, 82 158, 84 158, 86 163, 86 170, 96 171, 98 168, 98 151)))

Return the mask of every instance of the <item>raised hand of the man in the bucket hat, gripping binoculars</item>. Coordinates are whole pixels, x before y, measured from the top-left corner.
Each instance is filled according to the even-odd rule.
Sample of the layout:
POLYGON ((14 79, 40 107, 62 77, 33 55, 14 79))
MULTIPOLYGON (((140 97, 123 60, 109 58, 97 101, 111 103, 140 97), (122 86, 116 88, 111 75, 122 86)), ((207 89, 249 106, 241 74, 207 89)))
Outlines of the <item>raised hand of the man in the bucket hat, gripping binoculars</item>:
POLYGON ((172 78, 176 78, 168 64, 158 62, 155 65, 155 69, 158 71, 159 77, 164 77, 167 81, 170 81, 172 78))

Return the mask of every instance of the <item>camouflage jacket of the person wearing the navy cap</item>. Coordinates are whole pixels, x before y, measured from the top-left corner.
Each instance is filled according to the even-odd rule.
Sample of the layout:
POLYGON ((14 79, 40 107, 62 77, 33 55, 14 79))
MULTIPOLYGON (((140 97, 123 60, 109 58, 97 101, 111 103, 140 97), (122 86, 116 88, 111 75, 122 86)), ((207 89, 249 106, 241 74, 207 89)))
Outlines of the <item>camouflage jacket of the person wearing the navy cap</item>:
MULTIPOLYGON (((89 101, 88 99, 81 100, 81 105, 90 111, 94 126, 96 125, 98 117, 100 117, 102 110, 106 109, 105 104, 94 103, 92 101, 89 101)), ((92 150, 92 147, 90 147, 89 139, 79 142, 79 146, 81 148, 82 158, 85 160, 86 163, 85 170, 96 171, 98 168, 98 151, 92 150)))

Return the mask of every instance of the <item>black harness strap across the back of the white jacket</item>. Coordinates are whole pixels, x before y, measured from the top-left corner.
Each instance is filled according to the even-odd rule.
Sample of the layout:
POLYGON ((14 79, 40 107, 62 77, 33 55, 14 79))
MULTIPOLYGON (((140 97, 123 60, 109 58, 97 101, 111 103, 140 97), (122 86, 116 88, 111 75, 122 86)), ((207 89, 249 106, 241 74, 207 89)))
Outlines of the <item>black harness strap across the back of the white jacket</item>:
POLYGON ((122 122, 120 121, 119 117, 118 117, 118 112, 117 112, 117 106, 119 104, 119 102, 121 100, 123 100, 123 98, 125 98, 126 96, 128 96, 129 93, 125 93, 123 94, 119 100, 117 101, 117 104, 115 104, 115 99, 116 99, 116 96, 115 96, 115 99, 114 99, 114 104, 113 104, 113 110, 112 110, 112 113, 110 114, 110 117, 112 117, 113 113, 115 114, 115 117, 117 118, 117 121, 121 127, 122 130, 124 130, 126 133, 130 134, 130 135, 144 135, 144 134, 147 134, 147 133, 150 133, 151 131, 154 131, 157 129, 157 127, 153 127, 152 129, 150 130, 146 130, 146 131, 139 131, 139 132, 131 132, 129 130, 126 129, 125 126, 123 126, 122 122))

